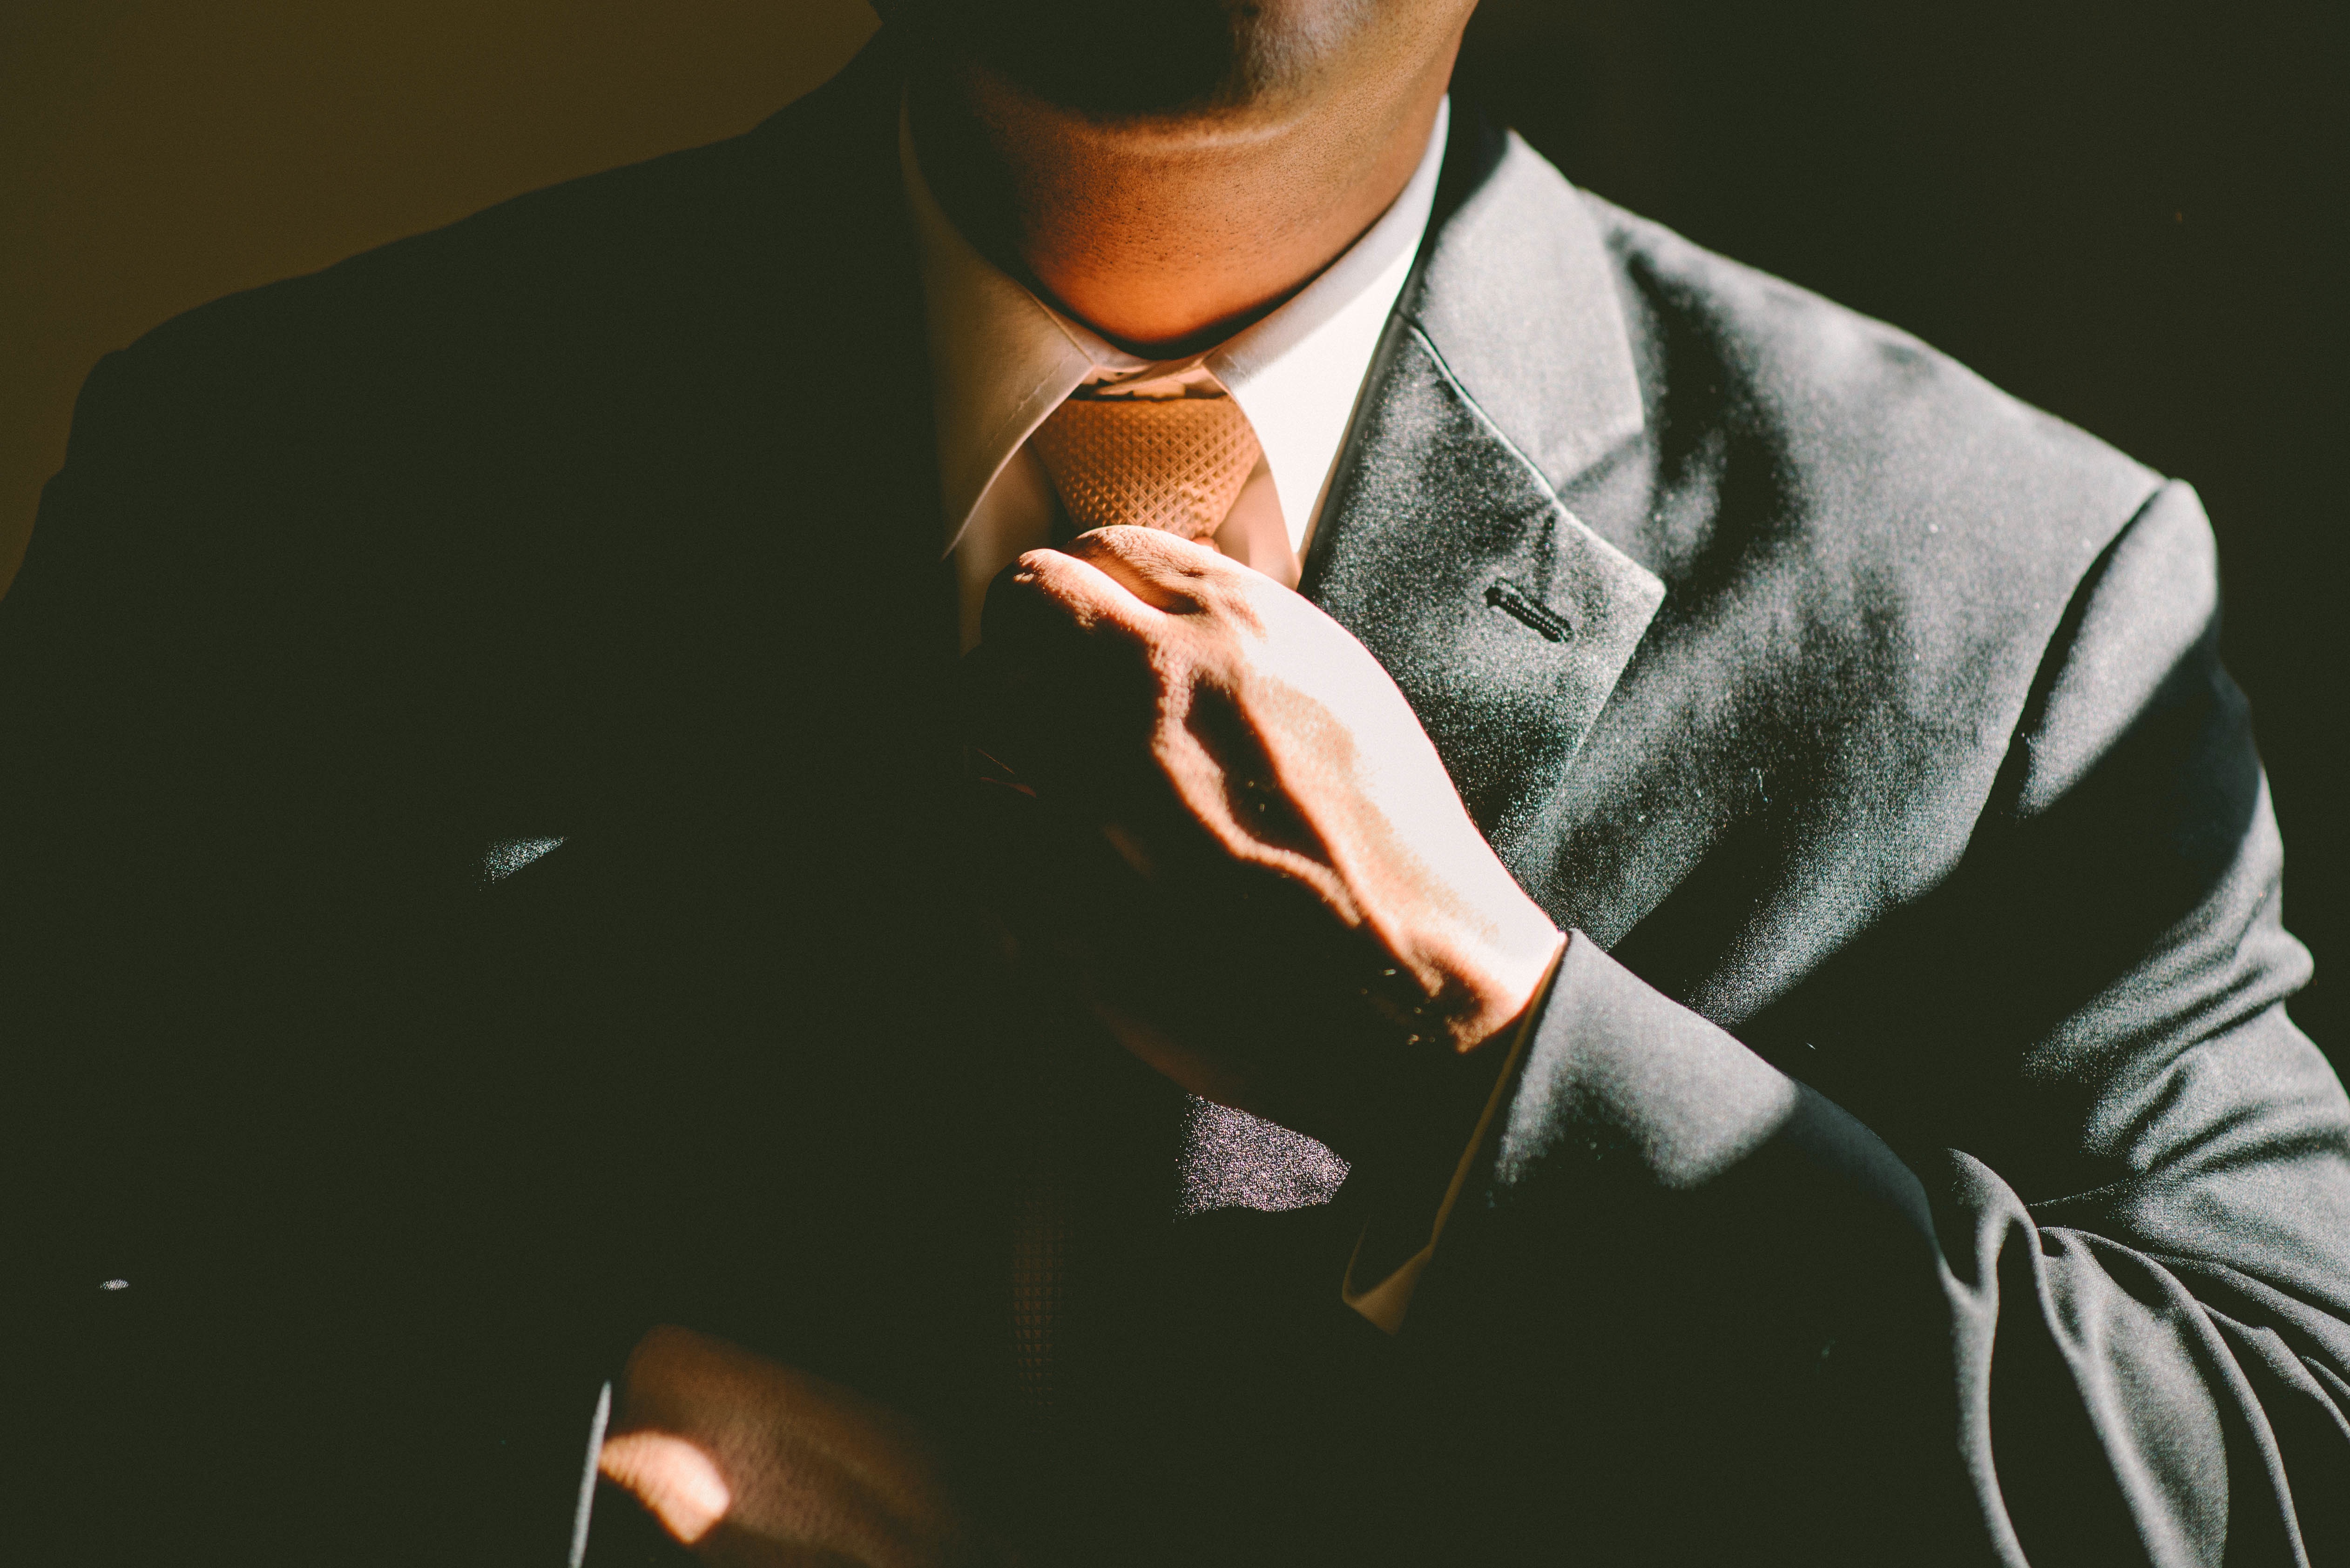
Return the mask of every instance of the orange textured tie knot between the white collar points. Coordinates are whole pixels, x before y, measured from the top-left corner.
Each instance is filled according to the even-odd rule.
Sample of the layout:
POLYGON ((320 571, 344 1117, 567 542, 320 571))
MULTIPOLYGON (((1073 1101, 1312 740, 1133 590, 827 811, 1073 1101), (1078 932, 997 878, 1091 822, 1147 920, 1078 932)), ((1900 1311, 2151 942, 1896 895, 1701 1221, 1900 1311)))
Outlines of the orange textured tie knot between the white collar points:
POLYGON ((1140 523, 1206 540, 1262 448, 1229 397, 1072 397, 1029 446, 1079 533, 1140 523))

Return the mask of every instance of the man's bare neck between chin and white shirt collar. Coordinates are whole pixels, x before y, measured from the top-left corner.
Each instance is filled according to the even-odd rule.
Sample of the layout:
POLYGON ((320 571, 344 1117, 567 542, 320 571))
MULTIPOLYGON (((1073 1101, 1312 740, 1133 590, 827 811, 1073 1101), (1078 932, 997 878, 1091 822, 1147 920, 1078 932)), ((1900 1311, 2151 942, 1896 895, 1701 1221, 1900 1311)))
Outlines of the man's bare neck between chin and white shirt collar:
POLYGON ((996 265, 1112 343, 1170 359, 1281 305, 1386 211, 1450 73, 1445 45, 1292 108, 1097 120, 940 66, 914 77, 914 146, 940 207, 996 265))

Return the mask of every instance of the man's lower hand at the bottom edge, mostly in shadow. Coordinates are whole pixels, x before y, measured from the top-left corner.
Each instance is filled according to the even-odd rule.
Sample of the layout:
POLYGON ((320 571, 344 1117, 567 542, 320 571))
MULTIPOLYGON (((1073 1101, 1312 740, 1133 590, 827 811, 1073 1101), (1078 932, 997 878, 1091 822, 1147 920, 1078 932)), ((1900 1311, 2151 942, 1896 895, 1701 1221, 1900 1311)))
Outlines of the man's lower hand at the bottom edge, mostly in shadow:
POLYGON ((686 1329, 627 1359, 602 1472, 721 1568, 1003 1563, 907 1418, 686 1329))

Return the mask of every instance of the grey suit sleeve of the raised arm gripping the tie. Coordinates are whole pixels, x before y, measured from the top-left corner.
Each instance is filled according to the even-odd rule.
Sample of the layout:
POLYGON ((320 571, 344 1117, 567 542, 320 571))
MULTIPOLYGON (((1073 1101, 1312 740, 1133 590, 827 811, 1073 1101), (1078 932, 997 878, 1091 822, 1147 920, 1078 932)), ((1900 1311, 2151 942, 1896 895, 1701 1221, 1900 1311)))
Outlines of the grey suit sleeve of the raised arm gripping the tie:
POLYGON ((1751 1030, 1793 1047, 1572 939, 1405 1326, 1471 1512, 1598 1561, 2350 1561, 2350 1106, 2216 622, 2169 486, 1948 885, 1751 1030))

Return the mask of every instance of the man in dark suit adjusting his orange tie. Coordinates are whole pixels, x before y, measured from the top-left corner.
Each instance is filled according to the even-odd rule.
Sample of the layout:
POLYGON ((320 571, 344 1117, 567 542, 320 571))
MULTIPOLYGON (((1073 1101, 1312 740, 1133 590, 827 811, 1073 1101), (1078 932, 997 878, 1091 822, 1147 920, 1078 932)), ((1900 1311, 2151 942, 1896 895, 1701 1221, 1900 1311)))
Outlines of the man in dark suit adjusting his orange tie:
POLYGON ((710 1561, 2343 1549, 2193 493, 1574 192, 1464 19, 893 7, 92 376, 49 1561, 552 1561, 623 1357, 710 1561))

